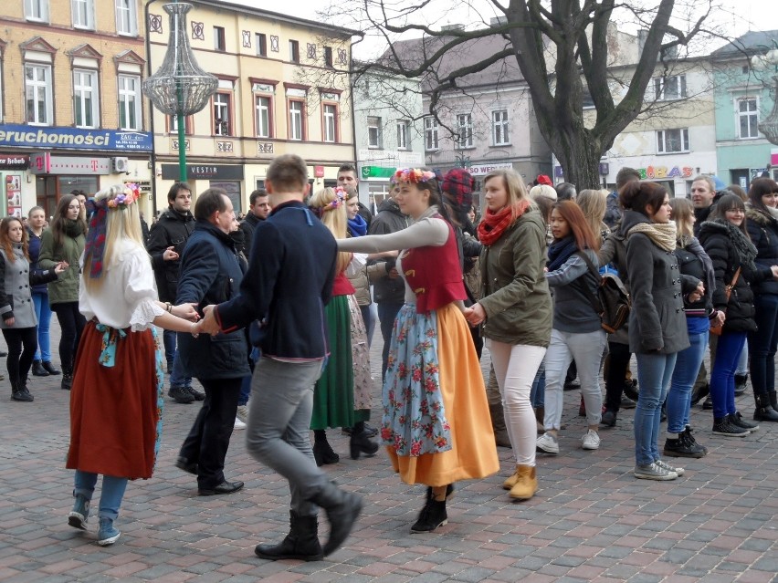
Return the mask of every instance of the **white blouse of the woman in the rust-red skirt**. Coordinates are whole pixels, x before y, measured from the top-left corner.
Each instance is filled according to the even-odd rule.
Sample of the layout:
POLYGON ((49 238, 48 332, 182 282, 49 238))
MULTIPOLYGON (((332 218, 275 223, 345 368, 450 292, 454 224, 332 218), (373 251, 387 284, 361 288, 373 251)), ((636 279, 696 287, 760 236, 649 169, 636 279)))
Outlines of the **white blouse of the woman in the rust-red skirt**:
MULTIPOLYGON (((103 266, 102 286, 93 291, 83 282, 79 286, 79 310, 87 320, 96 318, 111 328, 152 328, 154 318, 164 314, 155 303, 159 296, 152 260, 141 245, 127 240, 120 245, 111 264, 103 266)), ((83 261, 82 255, 82 268, 83 261)))

